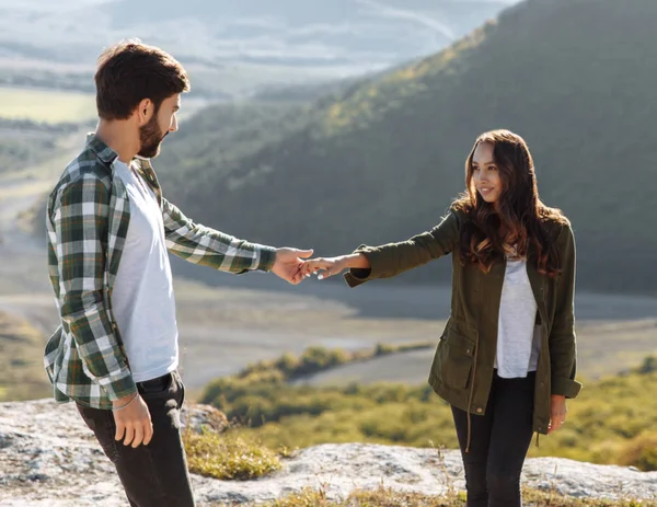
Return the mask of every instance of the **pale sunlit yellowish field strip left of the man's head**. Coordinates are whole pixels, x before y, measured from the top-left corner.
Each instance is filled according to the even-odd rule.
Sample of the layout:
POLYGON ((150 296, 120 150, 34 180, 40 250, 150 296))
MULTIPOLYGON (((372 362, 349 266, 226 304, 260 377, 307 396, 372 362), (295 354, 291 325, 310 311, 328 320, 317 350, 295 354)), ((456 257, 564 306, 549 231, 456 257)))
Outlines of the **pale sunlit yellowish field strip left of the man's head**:
POLYGON ((0 87, 0 118, 56 124, 94 117, 92 94, 0 87))

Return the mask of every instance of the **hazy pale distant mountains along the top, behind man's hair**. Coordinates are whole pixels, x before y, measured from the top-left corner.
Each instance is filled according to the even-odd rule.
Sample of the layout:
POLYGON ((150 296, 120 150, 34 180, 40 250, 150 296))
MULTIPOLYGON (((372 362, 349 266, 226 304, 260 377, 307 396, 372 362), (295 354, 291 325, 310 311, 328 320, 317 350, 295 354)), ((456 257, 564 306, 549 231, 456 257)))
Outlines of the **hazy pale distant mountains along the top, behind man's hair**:
POLYGON ((381 70, 436 51, 517 0, 0 1, 0 82, 88 90, 97 54, 124 37, 185 64, 195 94, 381 70))

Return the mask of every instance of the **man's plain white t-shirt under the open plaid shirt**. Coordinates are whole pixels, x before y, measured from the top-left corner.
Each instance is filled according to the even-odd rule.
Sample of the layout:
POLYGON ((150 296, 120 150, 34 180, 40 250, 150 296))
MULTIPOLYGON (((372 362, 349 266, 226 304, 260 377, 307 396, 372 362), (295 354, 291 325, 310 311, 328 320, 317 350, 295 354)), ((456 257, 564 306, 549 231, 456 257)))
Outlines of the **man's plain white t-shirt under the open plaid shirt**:
POLYGON ((162 210, 154 193, 116 159, 114 175, 125 184, 130 223, 116 274, 112 307, 135 382, 177 368, 177 324, 162 210))

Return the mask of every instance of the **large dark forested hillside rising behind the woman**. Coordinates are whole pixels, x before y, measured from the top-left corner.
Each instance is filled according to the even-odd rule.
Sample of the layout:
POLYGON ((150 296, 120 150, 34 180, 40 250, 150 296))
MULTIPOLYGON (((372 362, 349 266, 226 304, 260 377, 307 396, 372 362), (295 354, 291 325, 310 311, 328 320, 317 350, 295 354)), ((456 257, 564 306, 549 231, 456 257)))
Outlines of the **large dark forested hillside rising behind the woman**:
MULTIPOLYGON (((289 131, 270 139, 263 127, 246 153, 231 155, 207 128, 223 118, 208 111, 185 126, 205 148, 182 170, 168 157, 186 141, 172 136, 157 168, 198 221, 331 255, 435 224, 463 188, 476 135, 511 128, 530 143, 543 199, 574 223, 579 287, 655 293, 656 16, 652 0, 530 0, 440 54, 318 101, 293 125, 281 116, 275 134, 289 131)), ((403 278, 447 280, 441 264, 403 278)))

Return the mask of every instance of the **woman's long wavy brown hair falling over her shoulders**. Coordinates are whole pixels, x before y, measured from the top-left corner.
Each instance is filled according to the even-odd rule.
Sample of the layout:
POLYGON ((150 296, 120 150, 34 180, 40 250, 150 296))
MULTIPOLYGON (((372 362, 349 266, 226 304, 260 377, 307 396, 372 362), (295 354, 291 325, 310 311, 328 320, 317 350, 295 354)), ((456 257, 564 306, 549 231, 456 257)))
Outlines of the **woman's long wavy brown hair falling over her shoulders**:
POLYGON ((533 159, 525 139, 509 130, 482 134, 465 161, 466 193, 453 208, 468 219, 461 232, 460 260, 463 265, 479 264, 488 273, 493 263, 507 254, 527 257, 529 245, 537 253, 540 273, 555 276, 560 272, 560 253, 545 230, 545 223, 567 223, 558 209, 549 208, 539 198, 533 159), (486 203, 472 181, 472 159, 482 142, 493 145, 493 155, 503 184, 499 200, 486 203))

